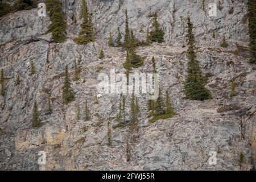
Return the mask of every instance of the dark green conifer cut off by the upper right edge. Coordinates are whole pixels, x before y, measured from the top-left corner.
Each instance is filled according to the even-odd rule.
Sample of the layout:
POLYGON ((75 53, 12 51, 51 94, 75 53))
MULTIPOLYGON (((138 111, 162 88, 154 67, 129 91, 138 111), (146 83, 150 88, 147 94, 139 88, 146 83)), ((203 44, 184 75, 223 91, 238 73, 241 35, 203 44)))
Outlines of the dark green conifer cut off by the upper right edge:
POLYGON ((250 63, 256 64, 256 1, 248 0, 248 22, 250 36, 250 63))

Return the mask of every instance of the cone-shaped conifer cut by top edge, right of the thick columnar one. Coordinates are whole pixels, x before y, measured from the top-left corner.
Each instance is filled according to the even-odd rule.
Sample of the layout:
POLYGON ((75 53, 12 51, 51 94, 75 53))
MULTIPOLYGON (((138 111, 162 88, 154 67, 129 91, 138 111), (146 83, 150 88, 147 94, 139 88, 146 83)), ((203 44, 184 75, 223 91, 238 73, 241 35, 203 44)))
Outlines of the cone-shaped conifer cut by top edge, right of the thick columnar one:
POLYGON ((77 44, 88 44, 95 41, 92 15, 88 11, 87 3, 82 0, 82 23, 79 36, 74 39, 77 44))

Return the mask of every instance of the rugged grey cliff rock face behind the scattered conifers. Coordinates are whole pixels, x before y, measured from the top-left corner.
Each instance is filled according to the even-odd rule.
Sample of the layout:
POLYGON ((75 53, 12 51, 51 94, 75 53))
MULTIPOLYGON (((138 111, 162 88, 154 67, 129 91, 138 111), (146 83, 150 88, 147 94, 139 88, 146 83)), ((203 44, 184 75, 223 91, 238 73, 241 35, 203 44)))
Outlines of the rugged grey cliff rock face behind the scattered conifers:
MULTIPOLYGON (((39 17, 38 9, 18 11, 0 20, 0 67, 5 71, 4 97, 0 96, 0 169, 25 170, 251 170, 256 159, 256 66, 248 64, 247 1, 227 1, 217 17, 209 17, 208 4, 199 0, 163 1, 88 1, 96 27, 95 43, 79 46, 73 42, 79 32, 81 1, 63 1, 67 15, 68 39, 51 42, 46 34, 48 16, 39 17), (203 9, 204 7, 204 9, 203 9), (97 97, 99 73, 125 72, 122 63, 126 51, 107 45, 109 32, 123 32, 127 8, 130 28, 144 40, 152 19, 159 13, 165 43, 139 47, 144 64, 134 72, 152 73, 155 56, 160 87, 168 90, 177 115, 148 123, 146 97, 137 95, 141 114, 139 129, 113 129, 118 112, 119 94, 97 97), (233 8, 234 13, 228 10, 233 8), (186 18, 191 17, 196 35, 197 59, 208 76, 209 101, 183 100, 182 82, 186 75, 186 18), (76 21, 75 21, 76 19, 76 21), (216 38, 212 37, 212 32, 216 38), (225 35, 229 47, 220 45, 225 35), (105 58, 98 59, 103 48, 105 58), (63 105, 63 72, 68 65, 74 76, 73 61, 81 56, 80 80, 72 82, 76 101, 63 105), (35 75, 30 75, 30 61, 35 75), (21 82, 16 85, 16 76, 21 82), (231 82, 236 82, 237 96, 230 97, 231 82), (85 80, 85 81, 83 81, 85 80), (53 112, 47 114, 51 94, 53 112), (84 121, 85 100, 90 121, 84 121), (31 125, 33 102, 38 102, 44 125, 31 125), (77 117, 77 107, 81 112, 77 117), (108 145, 110 122, 111 145, 108 145), (84 133, 86 123, 88 130, 84 133), (127 147, 127 140, 129 147, 127 147), (127 150, 128 148, 128 150, 127 150), (38 152, 46 152, 46 164, 38 164, 38 152), (128 151, 128 152, 127 152, 128 151), (216 152, 216 165, 209 164, 210 152, 216 152), (127 162, 127 153, 130 161, 127 162), (240 156, 243 154, 243 157, 240 156)), ((126 98, 129 114, 130 96, 126 98)))

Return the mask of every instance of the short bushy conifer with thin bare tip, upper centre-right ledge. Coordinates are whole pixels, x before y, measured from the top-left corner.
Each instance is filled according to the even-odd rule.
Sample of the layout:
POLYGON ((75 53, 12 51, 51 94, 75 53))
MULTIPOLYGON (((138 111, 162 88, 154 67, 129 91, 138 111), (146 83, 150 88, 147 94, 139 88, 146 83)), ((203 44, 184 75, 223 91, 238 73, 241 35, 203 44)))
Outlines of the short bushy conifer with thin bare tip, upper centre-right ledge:
POLYGON ((153 15, 153 30, 150 32, 151 42, 164 42, 164 31, 160 28, 158 23, 158 13, 154 13, 153 15))

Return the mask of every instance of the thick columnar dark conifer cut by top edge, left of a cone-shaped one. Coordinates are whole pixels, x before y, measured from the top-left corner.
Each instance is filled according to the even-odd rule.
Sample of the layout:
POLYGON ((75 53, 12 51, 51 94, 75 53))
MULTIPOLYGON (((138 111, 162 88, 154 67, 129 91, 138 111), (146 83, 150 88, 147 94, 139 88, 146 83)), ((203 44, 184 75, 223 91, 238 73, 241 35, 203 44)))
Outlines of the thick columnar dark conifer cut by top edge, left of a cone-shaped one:
POLYGON ((49 11, 49 19, 51 24, 48 27, 48 32, 52 32, 52 39, 56 43, 63 43, 67 39, 65 21, 65 13, 62 11, 62 3, 60 0, 47 0, 46 10, 49 11))

